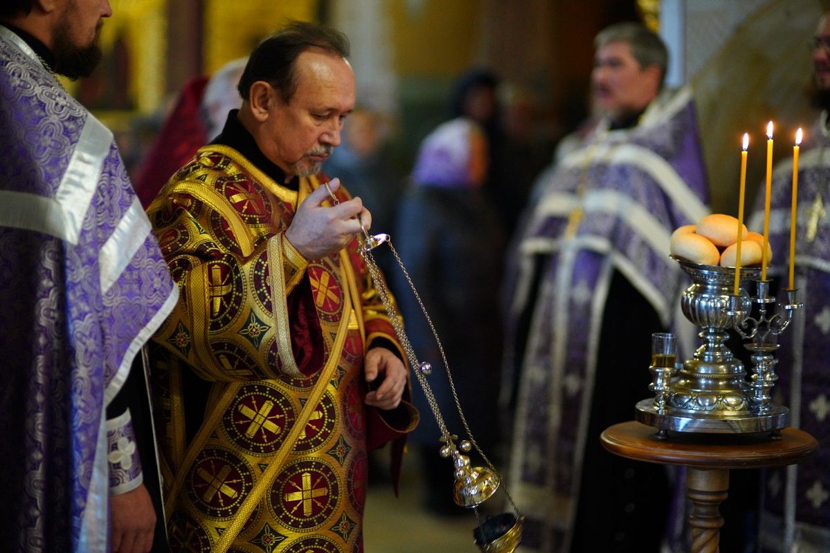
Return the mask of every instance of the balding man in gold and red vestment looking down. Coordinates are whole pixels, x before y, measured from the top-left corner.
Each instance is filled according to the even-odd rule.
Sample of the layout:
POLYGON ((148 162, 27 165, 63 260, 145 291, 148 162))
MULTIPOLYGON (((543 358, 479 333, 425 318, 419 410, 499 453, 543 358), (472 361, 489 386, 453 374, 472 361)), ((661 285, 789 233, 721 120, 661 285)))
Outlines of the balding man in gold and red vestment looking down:
POLYGON ((366 452, 391 441, 399 468, 417 424, 356 249, 371 216, 320 174, 347 55, 308 23, 263 41, 242 109, 149 207, 181 291, 153 367, 173 551, 363 551, 366 452))

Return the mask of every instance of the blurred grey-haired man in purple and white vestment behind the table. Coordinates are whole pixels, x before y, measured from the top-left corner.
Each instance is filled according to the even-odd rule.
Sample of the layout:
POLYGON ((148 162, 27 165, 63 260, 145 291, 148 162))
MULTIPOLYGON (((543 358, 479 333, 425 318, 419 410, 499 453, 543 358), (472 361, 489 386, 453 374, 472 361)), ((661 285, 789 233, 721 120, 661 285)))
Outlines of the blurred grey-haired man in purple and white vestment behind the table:
POLYGON ((521 551, 662 545, 666 468, 608 453, 599 434, 649 394, 649 335, 671 324, 683 282, 669 237, 708 212, 694 104, 662 93, 667 63, 640 23, 598 33, 602 120, 545 173, 514 242, 501 410, 515 413, 521 551))

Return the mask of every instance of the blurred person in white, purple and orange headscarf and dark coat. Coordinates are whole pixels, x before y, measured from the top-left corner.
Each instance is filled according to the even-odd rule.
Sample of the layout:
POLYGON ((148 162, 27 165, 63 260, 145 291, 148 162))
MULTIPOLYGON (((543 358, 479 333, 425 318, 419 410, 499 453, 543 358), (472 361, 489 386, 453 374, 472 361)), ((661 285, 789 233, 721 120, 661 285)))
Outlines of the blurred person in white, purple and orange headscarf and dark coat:
MULTIPOLYGON (((487 83, 486 94, 468 102, 479 108, 486 104, 489 113, 491 81, 487 83)), ((484 194, 488 144, 479 120, 460 115, 424 138, 393 235, 441 337, 449 367, 442 362, 432 330, 403 274, 393 271, 393 276, 408 337, 418 357, 432 363, 427 380, 447 428, 466 439, 447 378, 450 370, 461 409, 476 441, 487 452, 496 444, 494 405, 501 342, 496 295, 504 237, 496 211, 484 194)), ((420 387, 413 390, 413 400, 422 413, 430 412, 420 387)), ((452 502, 454 468, 438 454, 440 435, 432 416, 423 416, 410 434, 427 483, 424 501, 432 512, 462 514, 464 510, 452 502)))

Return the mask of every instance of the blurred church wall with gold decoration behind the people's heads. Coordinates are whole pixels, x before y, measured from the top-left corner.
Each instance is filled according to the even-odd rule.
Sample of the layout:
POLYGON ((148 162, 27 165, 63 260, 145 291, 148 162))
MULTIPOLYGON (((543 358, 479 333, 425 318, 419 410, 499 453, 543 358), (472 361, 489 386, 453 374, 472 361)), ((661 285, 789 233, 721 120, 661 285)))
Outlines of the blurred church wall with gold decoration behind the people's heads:
MULTIPOLYGON (((696 87, 715 211, 735 212, 744 132, 761 144, 776 119, 776 158, 808 127, 804 45, 827 0, 131 0, 102 33, 105 60, 67 86, 116 133, 146 142, 183 84, 245 56, 290 19, 328 22, 352 41, 359 103, 397 121, 401 163, 446 115, 452 83, 486 66, 529 90, 540 132, 558 137, 588 113, 593 35, 660 17, 675 59, 669 84, 696 87), (136 123, 136 121, 139 123, 136 123), (136 130, 139 129, 139 130, 136 130)), ((760 150, 756 150, 759 152, 760 150)), ((750 156, 751 157, 751 156, 750 156)), ((749 163, 752 201, 763 163, 749 163)))

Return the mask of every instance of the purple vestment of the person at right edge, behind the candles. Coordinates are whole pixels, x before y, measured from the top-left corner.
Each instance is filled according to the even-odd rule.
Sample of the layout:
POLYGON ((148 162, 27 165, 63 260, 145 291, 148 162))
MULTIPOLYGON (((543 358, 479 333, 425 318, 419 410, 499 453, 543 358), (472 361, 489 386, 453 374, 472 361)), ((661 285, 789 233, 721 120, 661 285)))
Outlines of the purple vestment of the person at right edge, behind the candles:
MULTIPOLYGON (((764 471, 759 551, 830 551, 830 136, 827 112, 807 133, 798 162, 795 283, 804 308, 779 337, 775 400, 791 424, 818 439, 803 463, 764 471), (813 208, 815 206, 815 208, 813 208), (816 212, 813 212, 813 209, 816 212), (808 235, 810 226, 816 230, 808 235)), ((775 167, 769 216, 770 274, 787 285, 793 160, 775 167)), ((763 194, 750 229, 763 231, 763 194)))

